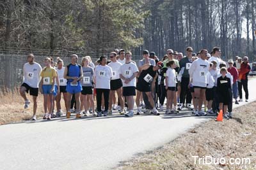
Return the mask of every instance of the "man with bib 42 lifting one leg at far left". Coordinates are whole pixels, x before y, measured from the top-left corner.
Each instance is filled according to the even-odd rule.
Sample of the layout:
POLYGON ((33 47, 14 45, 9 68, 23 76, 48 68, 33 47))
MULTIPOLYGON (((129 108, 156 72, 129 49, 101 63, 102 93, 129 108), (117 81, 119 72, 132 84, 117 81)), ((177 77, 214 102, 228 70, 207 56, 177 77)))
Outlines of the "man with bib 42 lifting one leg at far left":
POLYGON ((38 96, 38 84, 40 82, 40 73, 42 71, 42 67, 40 64, 35 62, 35 56, 33 54, 28 55, 28 62, 23 66, 23 76, 24 81, 20 86, 20 96, 25 100, 24 108, 28 108, 30 101, 26 97, 26 92, 33 96, 33 117, 32 120, 36 120, 36 108, 37 101, 36 98, 38 96))

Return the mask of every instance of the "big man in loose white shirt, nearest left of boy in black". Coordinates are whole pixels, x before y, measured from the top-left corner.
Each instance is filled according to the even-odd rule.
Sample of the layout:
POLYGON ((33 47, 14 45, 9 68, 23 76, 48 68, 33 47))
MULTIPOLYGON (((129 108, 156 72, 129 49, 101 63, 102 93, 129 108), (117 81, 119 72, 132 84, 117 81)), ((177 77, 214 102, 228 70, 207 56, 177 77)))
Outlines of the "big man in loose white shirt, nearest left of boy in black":
MULTIPOLYGON (((190 78, 192 78, 192 85, 195 90, 195 115, 205 116, 207 113, 202 111, 203 99, 205 97, 205 90, 207 87, 207 72, 209 71, 209 62, 207 59, 207 50, 200 50, 201 58, 195 60, 189 69, 190 78)), ((191 83, 191 82, 190 82, 191 83)))

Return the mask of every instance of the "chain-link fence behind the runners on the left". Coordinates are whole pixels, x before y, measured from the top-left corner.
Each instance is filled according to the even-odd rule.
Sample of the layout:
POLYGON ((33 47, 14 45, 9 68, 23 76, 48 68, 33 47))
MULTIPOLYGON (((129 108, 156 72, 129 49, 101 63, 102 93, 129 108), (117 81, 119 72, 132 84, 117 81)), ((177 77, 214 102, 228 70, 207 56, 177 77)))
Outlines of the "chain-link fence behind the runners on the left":
MULTIPOLYGON (((15 89, 20 86, 23 80, 23 65, 27 62, 27 56, 29 53, 35 55, 35 62, 38 62, 42 67, 44 67, 45 57, 52 56, 54 61, 57 57, 63 59, 64 65, 70 63, 70 55, 76 53, 79 56, 79 62, 81 62, 81 57, 85 55, 90 55, 92 61, 95 62, 101 55, 107 55, 106 53, 86 53, 86 52, 74 52, 67 50, 42 50, 38 49, 35 51, 23 51, 20 49, 13 48, 12 50, 3 50, 0 48, 0 91, 3 89, 15 89)), ((132 60, 138 62, 141 56, 132 56, 132 60)))

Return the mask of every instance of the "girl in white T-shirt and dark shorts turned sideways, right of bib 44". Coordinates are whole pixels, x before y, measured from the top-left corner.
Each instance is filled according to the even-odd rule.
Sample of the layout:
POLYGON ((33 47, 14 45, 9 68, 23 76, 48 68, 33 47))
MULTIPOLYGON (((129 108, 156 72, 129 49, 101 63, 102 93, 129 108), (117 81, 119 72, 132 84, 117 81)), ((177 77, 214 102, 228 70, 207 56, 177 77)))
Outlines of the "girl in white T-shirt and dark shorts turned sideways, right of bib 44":
POLYGON ((166 67, 168 67, 165 76, 166 86, 165 89, 167 90, 167 103, 166 103, 166 114, 169 113, 177 113, 173 110, 173 99, 176 99, 176 72, 175 72, 175 61, 170 60, 167 62, 166 67), (170 111, 171 109, 171 111, 170 111))

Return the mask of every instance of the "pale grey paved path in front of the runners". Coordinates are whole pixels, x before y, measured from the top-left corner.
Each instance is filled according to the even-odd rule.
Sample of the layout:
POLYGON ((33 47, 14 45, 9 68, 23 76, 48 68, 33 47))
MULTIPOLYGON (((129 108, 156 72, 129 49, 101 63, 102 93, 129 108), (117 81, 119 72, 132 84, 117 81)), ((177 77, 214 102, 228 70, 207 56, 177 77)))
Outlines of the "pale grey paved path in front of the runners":
MULTIPOLYGON (((249 81, 250 102, 256 79, 249 81)), ((254 94, 254 95, 253 95, 254 94)), ((237 106, 241 106, 241 103, 237 106)), ((37 120, 0 126, 1 169, 111 169, 211 117, 140 115, 37 120)))

